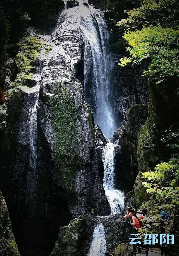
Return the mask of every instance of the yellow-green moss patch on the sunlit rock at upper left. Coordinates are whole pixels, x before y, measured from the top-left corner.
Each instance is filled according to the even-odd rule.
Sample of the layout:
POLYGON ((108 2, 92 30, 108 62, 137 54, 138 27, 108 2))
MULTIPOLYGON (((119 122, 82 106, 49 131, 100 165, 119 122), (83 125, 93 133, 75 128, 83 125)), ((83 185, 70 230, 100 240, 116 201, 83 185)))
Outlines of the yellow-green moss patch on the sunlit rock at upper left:
POLYGON ((19 52, 14 60, 17 65, 18 74, 14 81, 14 85, 27 84, 27 79, 30 78, 31 73, 35 69, 35 61, 45 45, 45 41, 32 36, 23 37, 17 44, 19 52))

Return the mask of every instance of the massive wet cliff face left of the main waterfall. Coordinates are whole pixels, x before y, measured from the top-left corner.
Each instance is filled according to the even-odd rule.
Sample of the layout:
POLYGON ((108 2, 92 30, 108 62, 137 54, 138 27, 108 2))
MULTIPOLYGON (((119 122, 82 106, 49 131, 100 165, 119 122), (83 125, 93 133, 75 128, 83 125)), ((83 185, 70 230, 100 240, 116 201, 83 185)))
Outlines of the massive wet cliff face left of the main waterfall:
MULTIPOLYGON (((73 30, 69 33, 72 36, 73 30)), ((9 55, 11 83, 2 106, 6 129, 1 133, 5 172, 1 173, 0 187, 22 255, 49 253, 59 226, 67 225, 73 217, 109 214, 99 174, 101 162, 94 151, 93 113, 84 98, 80 79, 76 78, 82 62, 80 44, 75 42, 74 47, 68 48, 71 36, 68 44, 62 44, 63 34, 66 35, 62 29, 55 32, 51 42, 48 36, 40 38, 35 33, 37 39, 34 34, 23 38, 14 59, 9 55), (32 47, 36 45, 35 57, 24 49, 26 40, 32 47), (37 154, 32 176, 35 179, 29 190, 30 120, 37 100, 37 83, 37 154), (30 197, 29 191, 33 191, 30 197)))

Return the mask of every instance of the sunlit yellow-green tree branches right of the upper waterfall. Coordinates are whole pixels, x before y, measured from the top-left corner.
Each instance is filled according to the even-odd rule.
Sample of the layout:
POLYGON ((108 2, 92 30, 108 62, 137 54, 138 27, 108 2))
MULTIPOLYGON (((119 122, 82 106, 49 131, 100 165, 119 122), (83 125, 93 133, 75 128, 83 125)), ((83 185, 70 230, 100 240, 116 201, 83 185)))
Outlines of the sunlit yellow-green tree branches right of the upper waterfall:
POLYGON ((157 83, 169 76, 179 75, 179 30, 149 26, 128 31, 124 38, 130 46, 127 51, 131 57, 121 58, 119 65, 125 66, 129 62, 136 64, 148 59, 150 64, 144 75, 157 83))

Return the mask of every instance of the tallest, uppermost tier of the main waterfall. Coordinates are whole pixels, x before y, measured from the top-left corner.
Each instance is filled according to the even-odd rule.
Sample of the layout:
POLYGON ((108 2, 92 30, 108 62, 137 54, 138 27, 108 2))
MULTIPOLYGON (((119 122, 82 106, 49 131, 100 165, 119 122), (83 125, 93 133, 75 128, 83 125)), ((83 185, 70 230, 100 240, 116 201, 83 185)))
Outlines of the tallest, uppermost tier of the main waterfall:
POLYGON ((79 6, 66 8, 63 11, 57 27, 67 28, 65 35, 68 35, 70 26, 70 31, 74 31, 76 38, 79 35, 83 38, 84 93, 93 107, 95 124, 100 126, 107 138, 112 138, 116 130, 116 121, 113 106, 110 35, 104 13, 88 5, 87 1, 79 0, 78 3, 79 6))

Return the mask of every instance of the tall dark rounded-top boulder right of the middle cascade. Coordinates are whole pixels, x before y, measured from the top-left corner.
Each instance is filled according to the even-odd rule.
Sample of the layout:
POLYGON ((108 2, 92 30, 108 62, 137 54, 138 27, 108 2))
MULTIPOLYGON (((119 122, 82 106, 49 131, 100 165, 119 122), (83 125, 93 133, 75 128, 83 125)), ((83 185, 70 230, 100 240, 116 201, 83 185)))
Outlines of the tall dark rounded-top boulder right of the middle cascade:
POLYGON ((139 127, 143 125, 147 119, 147 112, 147 104, 136 104, 131 106, 126 113, 126 123, 122 128, 121 154, 119 155, 121 158, 121 168, 117 174, 119 175, 118 179, 124 179, 131 188, 138 172, 138 131, 139 127))

